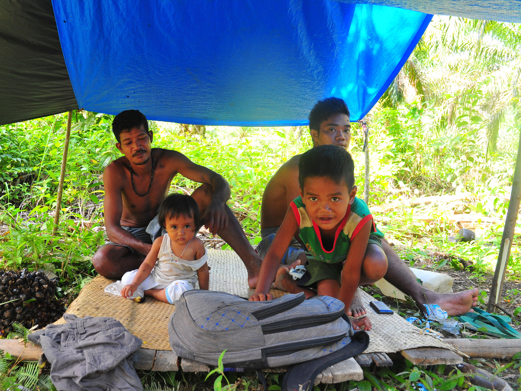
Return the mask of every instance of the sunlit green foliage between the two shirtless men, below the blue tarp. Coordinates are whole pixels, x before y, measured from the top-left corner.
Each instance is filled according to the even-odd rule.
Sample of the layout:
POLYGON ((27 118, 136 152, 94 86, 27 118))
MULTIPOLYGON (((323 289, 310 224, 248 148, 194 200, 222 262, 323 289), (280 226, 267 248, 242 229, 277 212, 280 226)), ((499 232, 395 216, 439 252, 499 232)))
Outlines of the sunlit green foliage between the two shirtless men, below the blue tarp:
MULTIPOLYGON (((156 146, 174 149, 197 164, 215 170, 228 180, 228 205, 239 217, 246 235, 255 244, 262 195, 269 179, 290 157, 311 148, 307 131, 293 128, 206 127, 205 137, 185 136, 159 127, 156 146), (280 130, 279 130, 280 129, 280 130), (237 132, 238 133, 234 133, 237 132), (303 132, 303 134, 301 134, 303 132)), ((171 191, 195 189, 186 178, 174 178, 171 191)))

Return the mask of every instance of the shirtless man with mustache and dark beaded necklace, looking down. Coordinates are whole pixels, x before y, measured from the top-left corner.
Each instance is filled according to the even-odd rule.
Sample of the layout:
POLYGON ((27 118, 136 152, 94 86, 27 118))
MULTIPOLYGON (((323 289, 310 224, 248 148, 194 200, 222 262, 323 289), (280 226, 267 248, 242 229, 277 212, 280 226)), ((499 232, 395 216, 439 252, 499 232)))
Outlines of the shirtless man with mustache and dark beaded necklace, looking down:
POLYGON ((240 256, 254 288, 262 260, 226 205, 230 186, 221 175, 193 163, 177 151, 152 148, 153 132, 137 110, 119 113, 112 124, 116 148, 123 154, 111 162, 103 175, 104 215, 109 242, 93 256, 96 271, 119 278, 139 268, 155 238, 162 235, 157 208, 167 196, 177 174, 202 185, 191 194, 199 205, 203 223, 240 256))

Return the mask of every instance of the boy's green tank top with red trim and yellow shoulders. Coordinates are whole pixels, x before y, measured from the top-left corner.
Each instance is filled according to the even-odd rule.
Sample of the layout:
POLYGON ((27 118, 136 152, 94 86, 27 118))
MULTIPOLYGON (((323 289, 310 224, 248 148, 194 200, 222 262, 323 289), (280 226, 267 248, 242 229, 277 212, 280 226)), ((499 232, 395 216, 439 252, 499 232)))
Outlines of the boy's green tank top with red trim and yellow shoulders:
POLYGON ((312 221, 306 212, 306 205, 302 202, 301 197, 295 198, 291 204, 291 209, 295 215, 297 224, 300 228, 300 238, 306 245, 306 255, 317 261, 327 263, 343 262, 348 256, 351 240, 358 234, 367 221, 372 221, 371 234, 383 238, 383 234, 376 228, 373 215, 369 211, 367 204, 361 199, 355 197, 355 200, 348 206, 345 216, 340 223, 335 234, 333 248, 326 251, 322 246, 320 238, 320 230, 317 223, 312 221))

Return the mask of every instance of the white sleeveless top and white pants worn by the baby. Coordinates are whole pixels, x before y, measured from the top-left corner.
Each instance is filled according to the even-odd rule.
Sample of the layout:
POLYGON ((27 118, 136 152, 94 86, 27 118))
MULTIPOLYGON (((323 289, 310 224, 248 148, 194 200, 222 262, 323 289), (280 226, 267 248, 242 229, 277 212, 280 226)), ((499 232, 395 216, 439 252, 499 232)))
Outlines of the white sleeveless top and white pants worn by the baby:
MULTIPOLYGON (((170 238, 168 234, 165 234, 157 254, 156 264, 150 275, 139 285, 139 288, 143 290, 166 288, 166 298, 170 304, 173 304, 183 292, 195 288, 197 270, 206 263, 207 258, 208 251, 206 249, 204 255, 195 261, 180 258, 173 253, 170 238)), ((136 273, 138 273, 138 269, 123 274, 121 283, 123 285, 132 284, 136 273)))

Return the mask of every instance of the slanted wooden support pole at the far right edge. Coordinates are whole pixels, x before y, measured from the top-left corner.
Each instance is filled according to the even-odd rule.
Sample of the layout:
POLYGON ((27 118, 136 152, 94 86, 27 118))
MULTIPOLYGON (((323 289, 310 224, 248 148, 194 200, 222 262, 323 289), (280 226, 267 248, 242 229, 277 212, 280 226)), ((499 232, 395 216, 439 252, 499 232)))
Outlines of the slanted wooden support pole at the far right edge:
POLYGON ((506 266, 510 258, 510 249, 512 240, 514 239, 514 230, 516 228, 517 213, 519 212, 519 202, 521 201, 521 130, 519 131, 519 145, 517 146, 516 167, 514 169, 514 177, 512 178, 512 191, 510 193, 510 203, 506 212, 505 227, 503 229, 503 237, 501 239, 501 247, 499 249, 498 263, 495 265, 494 278, 492 279, 492 287, 490 288, 489 302, 487 305, 488 312, 496 312, 496 304, 501 301, 501 292, 503 291, 503 281, 505 279, 506 266))

